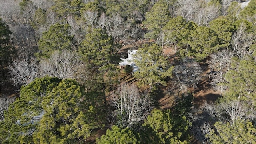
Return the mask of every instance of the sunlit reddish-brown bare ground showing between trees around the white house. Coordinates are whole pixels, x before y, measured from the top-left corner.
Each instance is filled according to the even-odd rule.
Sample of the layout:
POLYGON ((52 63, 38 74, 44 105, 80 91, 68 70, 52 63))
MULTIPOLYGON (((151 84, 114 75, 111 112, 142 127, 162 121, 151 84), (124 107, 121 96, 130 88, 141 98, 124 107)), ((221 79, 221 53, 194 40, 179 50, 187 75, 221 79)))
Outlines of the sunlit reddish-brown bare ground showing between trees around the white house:
MULTIPOLYGON (((121 53, 125 57, 125 55, 127 56, 128 50, 137 50, 141 44, 150 43, 150 42, 154 42, 154 41, 153 40, 136 41, 136 42, 133 42, 132 44, 122 46, 121 53)), ((166 56, 170 57, 169 59, 170 62, 174 63, 174 54, 175 54, 174 48, 171 48, 171 47, 163 48, 163 52, 166 56)), ((201 64, 200 67, 202 68, 203 73, 202 73, 202 81, 199 83, 198 88, 196 88, 195 91, 194 91, 194 88, 187 89, 187 90, 190 90, 190 92, 194 93, 194 97, 195 97, 193 101, 194 108, 200 107, 200 105, 202 105, 204 102, 214 102, 215 100, 218 99, 218 97, 220 97, 220 92, 213 90, 208 82, 210 68, 208 68, 208 65, 205 64, 205 62, 204 64, 201 64)), ((124 77, 124 79, 122 80, 122 82, 127 82, 127 83, 131 83, 135 81, 136 80, 129 75, 124 77)), ((160 86, 158 90, 155 91, 156 100, 158 102, 159 108, 161 109, 172 108, 174 106, 174 96, 173 94, 170 94, 170 92, 168 92, 169 91, 168 85, 170 84, 171 84, 171 81, 167 82, 167 86, 160 86)), ((141 89, 141 91, 144 91, 144 90, 147 90, 147 88, 143 87, 141 89)))

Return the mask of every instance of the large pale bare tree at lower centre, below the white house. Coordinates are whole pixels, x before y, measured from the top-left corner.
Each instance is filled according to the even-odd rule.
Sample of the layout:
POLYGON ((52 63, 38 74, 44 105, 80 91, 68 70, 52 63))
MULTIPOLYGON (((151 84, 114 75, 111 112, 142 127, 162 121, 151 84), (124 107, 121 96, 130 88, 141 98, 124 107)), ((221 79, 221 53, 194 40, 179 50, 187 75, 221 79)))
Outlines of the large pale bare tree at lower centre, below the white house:
POLYGON ((135 84, 120 84, 111 94, 116 109, 117 123, 122 127, 136 126, 147 118, 152 110, 152 101, 147 94, 140 94, 135 84))

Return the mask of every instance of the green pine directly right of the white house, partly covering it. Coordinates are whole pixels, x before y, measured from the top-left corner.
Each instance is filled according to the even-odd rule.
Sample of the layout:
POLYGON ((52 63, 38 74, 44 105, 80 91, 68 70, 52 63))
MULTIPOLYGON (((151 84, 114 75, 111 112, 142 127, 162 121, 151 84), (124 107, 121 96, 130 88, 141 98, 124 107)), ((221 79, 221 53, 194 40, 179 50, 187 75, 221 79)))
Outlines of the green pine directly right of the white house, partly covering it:
POLYGON ((168 58, 164 56, 162 47, 157 44, 152 46, 144 45, 139 48, 134 56, 134 62, 139 67, 139 71, 134 73, 134 76, 140 80, 140 85, 148 84, 154 88, 154 84, 165 85, 164 79, 168 76, 172 76, 172 70, 174 66, 170 66, 168 58), (162 67, 162 70, 160 70, 162 67))

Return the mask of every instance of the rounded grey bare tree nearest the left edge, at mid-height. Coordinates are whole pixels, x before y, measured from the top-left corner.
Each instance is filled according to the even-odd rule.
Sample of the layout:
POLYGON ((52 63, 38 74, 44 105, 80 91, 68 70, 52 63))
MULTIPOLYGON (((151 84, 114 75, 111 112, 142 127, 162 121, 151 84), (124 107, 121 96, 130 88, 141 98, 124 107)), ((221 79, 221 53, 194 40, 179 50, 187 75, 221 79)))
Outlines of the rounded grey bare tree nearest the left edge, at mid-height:
POLYGON ((15 86, 20 84, 28 85, 38 77, 38 65, 34 58, 28 57, 21 60, 14 60, 9 64, 11 80, 15 86))

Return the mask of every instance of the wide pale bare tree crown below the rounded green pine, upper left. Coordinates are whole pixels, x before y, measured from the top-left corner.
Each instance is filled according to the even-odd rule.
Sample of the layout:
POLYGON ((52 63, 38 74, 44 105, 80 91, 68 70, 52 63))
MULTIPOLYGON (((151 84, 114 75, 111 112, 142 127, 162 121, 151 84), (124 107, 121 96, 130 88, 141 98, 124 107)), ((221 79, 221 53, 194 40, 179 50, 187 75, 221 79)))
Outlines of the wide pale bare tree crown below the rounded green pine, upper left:
MULTIPOLYGON (((80 60, 76 52, 63 50, 56 51, 48 60, 40 62, 41 76, 54 76, 58 78, 79 78, 76 75, 80 60)), ((82 65, 82 64, 81 64, 82 65)))

